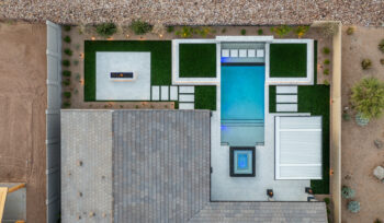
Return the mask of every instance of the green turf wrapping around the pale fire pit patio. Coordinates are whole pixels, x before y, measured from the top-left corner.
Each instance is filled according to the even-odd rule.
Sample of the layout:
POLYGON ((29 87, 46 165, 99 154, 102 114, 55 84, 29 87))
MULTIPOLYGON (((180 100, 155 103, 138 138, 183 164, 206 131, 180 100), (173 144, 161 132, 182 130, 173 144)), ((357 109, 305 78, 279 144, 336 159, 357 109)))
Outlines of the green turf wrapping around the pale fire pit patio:
POLYGON ((86 40, 84 42, 84 101, 95 101, 97 51, 149 51, 150 84, 171 85, 172 52, 170 40, 86 40))

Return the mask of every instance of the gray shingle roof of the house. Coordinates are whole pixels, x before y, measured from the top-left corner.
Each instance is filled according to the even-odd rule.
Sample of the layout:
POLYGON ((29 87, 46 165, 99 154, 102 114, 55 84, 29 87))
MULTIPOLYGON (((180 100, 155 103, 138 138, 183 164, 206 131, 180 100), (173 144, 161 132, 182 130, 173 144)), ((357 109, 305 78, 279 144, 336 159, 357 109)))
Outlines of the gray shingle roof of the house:
POLYGON ((207 110, 63 110, 63 222, 327 222, 323 202, 210 202, 210 119, 207 110))

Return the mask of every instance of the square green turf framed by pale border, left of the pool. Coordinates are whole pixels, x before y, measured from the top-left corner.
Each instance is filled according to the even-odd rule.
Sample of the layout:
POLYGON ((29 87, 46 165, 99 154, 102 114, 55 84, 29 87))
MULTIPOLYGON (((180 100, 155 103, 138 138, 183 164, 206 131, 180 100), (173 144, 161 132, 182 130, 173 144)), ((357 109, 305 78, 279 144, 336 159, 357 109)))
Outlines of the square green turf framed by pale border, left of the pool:
POLYGON ((180 44, 179 77, 215 78, 216 44, 180 44))

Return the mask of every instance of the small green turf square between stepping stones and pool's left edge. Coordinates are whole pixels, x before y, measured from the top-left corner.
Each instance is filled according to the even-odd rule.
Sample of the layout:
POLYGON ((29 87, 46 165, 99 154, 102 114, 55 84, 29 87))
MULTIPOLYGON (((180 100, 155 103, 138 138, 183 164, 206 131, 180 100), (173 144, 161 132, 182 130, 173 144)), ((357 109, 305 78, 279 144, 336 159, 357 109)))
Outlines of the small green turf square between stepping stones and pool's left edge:
POLYGON ((216 110, 216 86, 194 86, 194 109, 216 110))

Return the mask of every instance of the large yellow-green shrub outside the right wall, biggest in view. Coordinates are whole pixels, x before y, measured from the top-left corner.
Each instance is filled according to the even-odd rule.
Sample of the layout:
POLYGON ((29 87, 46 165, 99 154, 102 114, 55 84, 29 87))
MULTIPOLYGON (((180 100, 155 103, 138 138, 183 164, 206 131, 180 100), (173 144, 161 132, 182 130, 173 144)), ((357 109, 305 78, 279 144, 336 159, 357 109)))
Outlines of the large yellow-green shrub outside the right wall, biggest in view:
POLYGON ((376 78, 362 79, 352 87, 351 103, 363 118, 377 118, 384 109, 384 82, 376 78))

